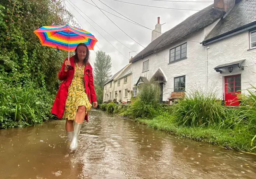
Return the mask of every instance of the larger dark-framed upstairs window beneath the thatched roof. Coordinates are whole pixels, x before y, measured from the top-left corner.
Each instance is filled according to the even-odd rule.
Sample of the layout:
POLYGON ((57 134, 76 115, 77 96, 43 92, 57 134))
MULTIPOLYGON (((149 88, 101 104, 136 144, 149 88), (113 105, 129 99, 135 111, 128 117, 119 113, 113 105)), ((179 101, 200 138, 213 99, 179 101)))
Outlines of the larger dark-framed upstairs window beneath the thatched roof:
POLYGON ((170 61, 181 60, 187 57, 187 42, 170 50, 170 61))

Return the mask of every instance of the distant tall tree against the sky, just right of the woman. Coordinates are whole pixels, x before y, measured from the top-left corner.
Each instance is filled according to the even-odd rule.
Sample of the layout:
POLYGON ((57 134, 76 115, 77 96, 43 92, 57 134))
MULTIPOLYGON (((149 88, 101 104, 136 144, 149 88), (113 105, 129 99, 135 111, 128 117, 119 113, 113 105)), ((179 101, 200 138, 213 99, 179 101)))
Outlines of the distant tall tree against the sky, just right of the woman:
POLYGON ((97 51, 93 71, 95 84, 103 90, 103 85, 111 77, 111 57, 104 51, 97 51))

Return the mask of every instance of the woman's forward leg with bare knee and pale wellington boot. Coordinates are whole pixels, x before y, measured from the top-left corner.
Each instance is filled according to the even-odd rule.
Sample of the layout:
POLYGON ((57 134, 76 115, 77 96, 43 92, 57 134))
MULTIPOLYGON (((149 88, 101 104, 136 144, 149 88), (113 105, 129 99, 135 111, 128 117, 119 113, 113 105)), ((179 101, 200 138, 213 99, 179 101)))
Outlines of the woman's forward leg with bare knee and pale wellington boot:
POLYGON ((69 147, 71 150, 77 149, 78 135, 80 134, 80 130, 83 125, 83 120, 85 120, 85 106, 78 106, 78 110, 76 112, 75 117, 74 134, 69 147))

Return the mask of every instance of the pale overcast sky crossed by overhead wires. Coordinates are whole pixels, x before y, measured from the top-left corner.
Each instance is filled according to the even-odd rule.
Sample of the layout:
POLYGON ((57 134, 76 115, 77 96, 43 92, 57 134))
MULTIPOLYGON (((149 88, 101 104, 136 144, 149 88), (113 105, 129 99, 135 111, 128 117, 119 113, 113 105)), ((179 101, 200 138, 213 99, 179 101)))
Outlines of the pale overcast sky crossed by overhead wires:
MULTIPOLYGON (((142 7, 138 5, 133 4, 127 4, 123 2, 131 2, 131 3, 137 3, 137 4, 143 4, 143 5, 150 5, 150 6, 158 6, 158 7, 169 7, 169 8, 182 8, 182 9, 195 9, 195 10, 201 10, 213 3, 213 0, 183 0, 183 1, 194 1, 194 2, 161 2, 161 1, 154 1, 154 0, 121 0, 123 2, 116 2, 114 0, 100 0, 104 2, 106 5, 102 4, 99 0, 70 0, 73 2, 78 8, 80 8, 83 13, 85 13, 88 17, 90 17, 95 23, 100 25, 104 30, 106 30, 109 34, 111 34, 113 37, 118 39, 120 42, 125 44, 127 47, 125 47, 123 44, 116 41, 114 38, 112 38, 109 34, 104 32, 104 30, 100 29, 99 26, 97 26, 92 20, 88 19, 79 9, 74 7, 74 5, 70 5, 68 0, 66 1, 67 7, 71 10, 71 12, 74 14, 76 19, 81 23, 83 26, 83 29, 91 32, 98 40, 96 43, 97 46, 100 48, 100 50, 105 51, 107 54, 111 56, 112 59, 112 74, 117 73, 121 68, 123 68, 126 64, 128 64, 128 57, 129 52, 132 51, 142 51, 143 47, 146 47, 151 42, 151 30, 145 29, 144 27, 140 27, 138 25, 132 24, 130 22, 127 22, 123 19, 119 19, 118 17, 111 15, 107 12, 104 12, 120 29, 122 29, 126 34, 128 34, 131 38, 133 38, 135 41, 137 41, 139 44, 137 44, 135 41, 133 41, 130 37, 128 37, 124 32, 122 32, 116 25, 114 25, 100 10, 99 8, 102 8, 108 12, 111 12, 112 14, 118 15, 119 17, 122 17, 121 15, 117 14, 113 10, 111 10, 109 7, 113 8, 120 14, 124 15, 125 17, 128 17, 129 19, 142 24, 146 27, 149 27, 150 29, 154 29, 155 25, 157 24, 157 17, 160 17, 160 24, 166 23, 162 25, 162 33, 166 32, 167 30, 173 28, 175 25, 179 24, 183 20, 185 20, 190 15, 196 13, 197 11, 192 10, 173 10, 173 9, 163 9, 163 8, 153 8, 153 7, 142 7), (93 7, 92 5, 86 3, 86 2, 92 3, 93 2, 99 7, 93 7), (92 2, 93 1, 93 2, 92 2), (207 1, 207 3, 195 3, 195 1, 207 1), (76 10, 80 12, 76 12, 76 10), (98 31, 93 29, 93 27, 86 22, 85 19, 98 31), (103 36, 103 37, 102 37, 103 36), (109 44, 109 41, 118 51, 119 53, 111 44, 109 44)), ((123 17, 124 18, 124 17, 123 17)), ((99 48, 95 46, 94 50, 98 51, 99 48)), ((130 56, 135 56, 135 52, 131 52, 130 56)), ((91 51, 91 63, 95 61, 95 52, 91 51)))

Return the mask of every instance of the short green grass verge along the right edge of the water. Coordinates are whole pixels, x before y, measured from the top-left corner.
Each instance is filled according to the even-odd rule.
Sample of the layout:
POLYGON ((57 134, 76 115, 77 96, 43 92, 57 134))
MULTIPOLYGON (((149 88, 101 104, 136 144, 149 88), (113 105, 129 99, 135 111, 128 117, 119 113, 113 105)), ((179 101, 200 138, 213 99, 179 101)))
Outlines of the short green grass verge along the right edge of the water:
MULTIPOLYGON (((251 137, 243 132, 236 132, 231 129, 219 129, 215 127, 182 127, 172 121, 164 119, 136 119, 136 122, 148 125, 157 130, 177 135, 178 137, 189 138, 197 141, 220 145, 227 149, 251 151, 251 137)), ((254 152, 256 152, 254 150, 254 152)))

